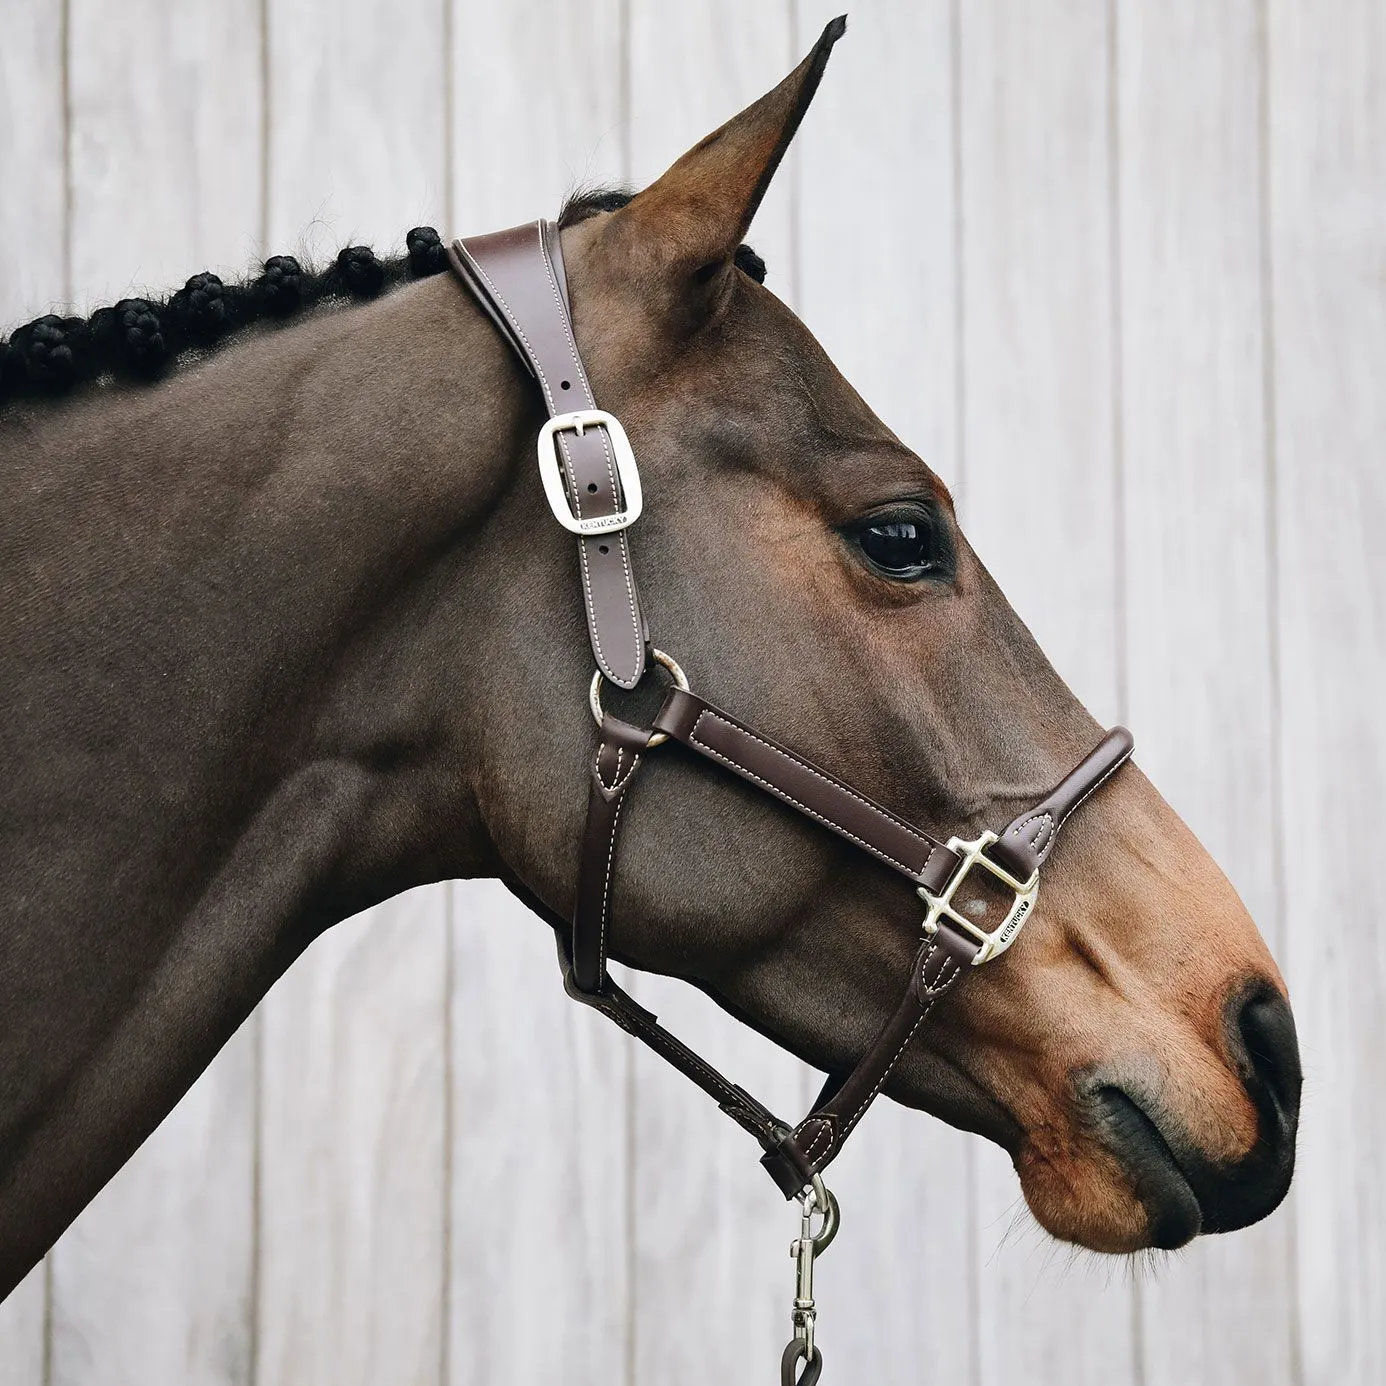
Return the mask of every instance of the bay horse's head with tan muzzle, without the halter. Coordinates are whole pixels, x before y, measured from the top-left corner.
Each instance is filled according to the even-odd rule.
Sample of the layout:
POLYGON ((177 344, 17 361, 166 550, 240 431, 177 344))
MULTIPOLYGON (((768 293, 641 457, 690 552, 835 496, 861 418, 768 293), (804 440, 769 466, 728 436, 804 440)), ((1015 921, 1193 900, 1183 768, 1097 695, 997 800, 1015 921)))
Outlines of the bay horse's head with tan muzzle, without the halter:
MULTIPOLYGON (((904 818, 974 836, 1034 802, 1099 732, 967 543, 944 482, 747 261, 743 237, 834 36, 644 191, 570 205, 572 319, 596 398, 640 459, 631 552, 656 644, 701 693, 755 710, 904 818)), ((516 467, 491 527, 505 535, 498 571, 523 549, 527 578, 523 596, 499 597, 484 663, 536 701, 516 725, 509 679, 493 685, 488 725, 509 710, 513 735, 488 739, 480 797, 503 875, 567 919, 592 736, 574 693, 585 642, 560 614, 574 610, 570 541, 536 520, 531 473, 516 467)), ((1016 459, 1016 485, 1044 478, 1016 459)), ((1062 557, 1024 542, 1042 586, 1062 557)), ((611 952, 850 1070, 918 948, 898 881, 678 747, 656 754, 626 812, 611 952)), ((970 881, 962 898, 981 922, 998 908, 970 881)), ((1016 945, 947 999, 887 1091, 1003 1145, 1052 1234, 1120 1252, 1274 1209, 1299 1084, 1285 984, 1254 923, 1128 766, 1058 848, 1016 945)))

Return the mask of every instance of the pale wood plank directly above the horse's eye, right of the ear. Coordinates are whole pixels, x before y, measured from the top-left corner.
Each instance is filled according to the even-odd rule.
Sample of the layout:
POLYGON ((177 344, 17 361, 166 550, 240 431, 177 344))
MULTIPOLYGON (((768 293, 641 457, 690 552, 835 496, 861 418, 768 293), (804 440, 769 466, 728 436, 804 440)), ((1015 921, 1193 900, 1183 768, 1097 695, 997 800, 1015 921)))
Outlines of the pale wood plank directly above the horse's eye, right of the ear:
MULTIPOLYGON (((836 0, 801 0, 807 51, 836 0)), ((952 4, 848 18, 797 137, 800 310, 873 409, 956 480, 952 4)), ((974 1137, 883 1102, 833 1166, 843 1232, 818 1272, 827 1369, 973 1380, 973 1209, 940 1170, 967 1170, 974 1137)), ((775 1281, 780 1288, 783 1271, 775 1281)), ((783 1314, 783 1308, 780 1310, 783 1314)))

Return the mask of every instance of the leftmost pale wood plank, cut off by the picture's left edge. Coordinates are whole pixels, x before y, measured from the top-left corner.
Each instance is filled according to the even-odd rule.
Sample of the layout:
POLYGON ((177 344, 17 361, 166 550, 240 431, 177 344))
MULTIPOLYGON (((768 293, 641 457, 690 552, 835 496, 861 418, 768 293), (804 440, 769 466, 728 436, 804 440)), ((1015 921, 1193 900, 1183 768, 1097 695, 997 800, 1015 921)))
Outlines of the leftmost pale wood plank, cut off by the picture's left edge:
MULTIPOLYGON (((0 341, 67 298, 67 109, 62 10, 6 0, 0 43, 0 341)), ((0 1382, 46 1386, 47 1272, 0 1303, 0 1382)))

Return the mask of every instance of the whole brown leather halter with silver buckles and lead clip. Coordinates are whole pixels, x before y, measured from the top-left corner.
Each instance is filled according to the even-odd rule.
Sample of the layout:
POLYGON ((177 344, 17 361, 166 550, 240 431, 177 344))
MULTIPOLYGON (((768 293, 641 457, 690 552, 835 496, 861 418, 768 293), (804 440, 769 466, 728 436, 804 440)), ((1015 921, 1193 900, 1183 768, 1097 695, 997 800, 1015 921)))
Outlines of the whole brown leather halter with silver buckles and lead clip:
POLYGON ((1040 866, 1053 851, 1064 819, 1131 755, 1125 728, 1107 732, 1096 748, 1034 808, 1002 833, 974 841, 940 843, 876 804, 834 775, 690 692, 682 669, 650 646, 628 545, 643 505, 639 471, 617 420, 597 409, 568 315, 559 229, 532 222, 489 236, 455 241, 449 261, 491 316, 521 363, 538 381, 549 423, 539 434, 539 467, 554 517, 578 536, 578 564, 597 675, 592 708, 597 748, 592 761, 588 818, 582 839, 577 909, 571 933, 559 930, 568 995, 593 1006, 692 1078, 761 1143, 761 1163, 786 1198, 802 1204, 802 1228, 791 1250, 798 1263, 794 1340, 782 1379, 812 1386, 822 1369, 814 1346, 814 1256, 837 1227, 837 1203, 822 1171, 880 1094, 900 1058, 938 998, 976 966, 998 956, 1019 936, 1040 883, 1040 866), (647 728, 602 712, 600 683, 631 689, 650 660, 664 664, 675 685, 647 728), (748 1092, 665 1030, 607 974, 611 877, 617 830, 631 780, 647 750, 676 740, 740 775, 798 812, 900 872, 927 905, 923 938, 895 1013, 857 1067, 829 1078, 812 1112, 790 1128, 748 1092), (985 931, 952 908, 952 897, 973 869, 1012 891, 1001 924, 985 931), (815 1235, 814 1213, 823 1222, 815 1235))

